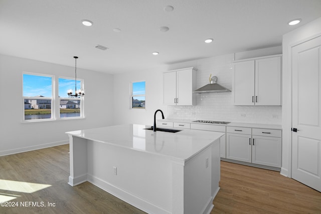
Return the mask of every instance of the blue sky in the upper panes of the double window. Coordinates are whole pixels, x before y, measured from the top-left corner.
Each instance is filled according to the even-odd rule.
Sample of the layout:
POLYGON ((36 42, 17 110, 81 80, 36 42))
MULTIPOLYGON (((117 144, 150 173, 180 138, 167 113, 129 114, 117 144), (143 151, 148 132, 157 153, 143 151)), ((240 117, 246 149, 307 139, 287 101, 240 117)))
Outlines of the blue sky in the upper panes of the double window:
MULTIPOLYGON (((23 78, 24 97, 36 97, 39 95, 52 97, 51 77, 24 74, 23 78)), ((77 91, 80 88, 80 81, 77 81, 77 91)), ((73 93, 75 93, 75 80, 59 78, 59 96, 68 97, 67 92, 69 89, 72 89, 73 93)))

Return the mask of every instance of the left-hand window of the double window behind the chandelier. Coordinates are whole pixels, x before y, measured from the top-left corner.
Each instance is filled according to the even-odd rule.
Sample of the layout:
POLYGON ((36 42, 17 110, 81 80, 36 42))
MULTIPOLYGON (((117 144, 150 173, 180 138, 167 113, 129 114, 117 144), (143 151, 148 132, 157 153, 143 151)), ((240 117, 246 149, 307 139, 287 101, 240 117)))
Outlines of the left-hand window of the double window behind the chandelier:
POLYGON ((53 118, 53 77, 23 75, 24 120, 53 118))

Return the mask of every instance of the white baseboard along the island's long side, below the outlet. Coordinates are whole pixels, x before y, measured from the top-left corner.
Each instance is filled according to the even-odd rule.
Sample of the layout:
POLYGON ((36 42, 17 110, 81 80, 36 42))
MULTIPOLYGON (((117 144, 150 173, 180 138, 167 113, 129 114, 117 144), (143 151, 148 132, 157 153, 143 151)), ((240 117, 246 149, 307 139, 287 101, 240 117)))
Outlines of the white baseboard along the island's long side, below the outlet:
POLYGON ((123 189, 120 189, 117 186, 114 186, 111 183, 108 183, 107 181, 104 181, 98 177, 95 177, 93 175, 88 174, 87 175, 88 182, 98 186, 99 188, 109 192, 110 194, 114 195, 115 197, 118 197, 119 199, 137 207, 138 209, 141 209, 147 213, 164 213, 164 214, 170 214, 172 213, 169 210, 166 210, 162 207, 159 207, 155 204, 152 204, 143 198, 140 198, 137 195, 134 195, 128 191, 125 191, 123 189))

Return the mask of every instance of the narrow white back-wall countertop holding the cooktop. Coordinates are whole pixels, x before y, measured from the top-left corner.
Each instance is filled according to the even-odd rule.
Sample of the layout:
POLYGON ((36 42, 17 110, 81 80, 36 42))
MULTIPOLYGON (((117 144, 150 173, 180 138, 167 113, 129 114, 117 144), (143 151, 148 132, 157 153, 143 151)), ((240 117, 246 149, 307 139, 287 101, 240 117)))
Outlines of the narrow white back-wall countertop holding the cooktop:
POLYGON ((208 124, 216 126, 238 126, 238 127, 249 127, 249 128, 266 128, 266 129, 279 129, 282 130, 282 126, 278 124, 261 124, 261 123, 242 123, 242 122, 230 122, 229 124, 215 124, 215 123, 199 123, 193 122, 196 120, 187 120, 187 119, 158 119, 157 121, 168 121, 168 122, 180 122, 180 123, 195 123, 195 124, 208 124))

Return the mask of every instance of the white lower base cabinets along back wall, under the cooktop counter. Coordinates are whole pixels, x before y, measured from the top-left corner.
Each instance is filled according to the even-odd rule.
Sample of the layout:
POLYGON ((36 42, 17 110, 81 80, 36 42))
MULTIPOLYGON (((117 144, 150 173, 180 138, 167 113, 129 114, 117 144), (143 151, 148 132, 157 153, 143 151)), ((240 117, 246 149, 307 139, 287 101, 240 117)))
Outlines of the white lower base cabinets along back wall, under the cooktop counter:
POLYGON ((220 138, 222 160, 280 170, 282 131, 187 122, 157 121, 157 127, 187 128, 226 133, 220 138), (267 166, 267 167, 265 167, 267 166))

